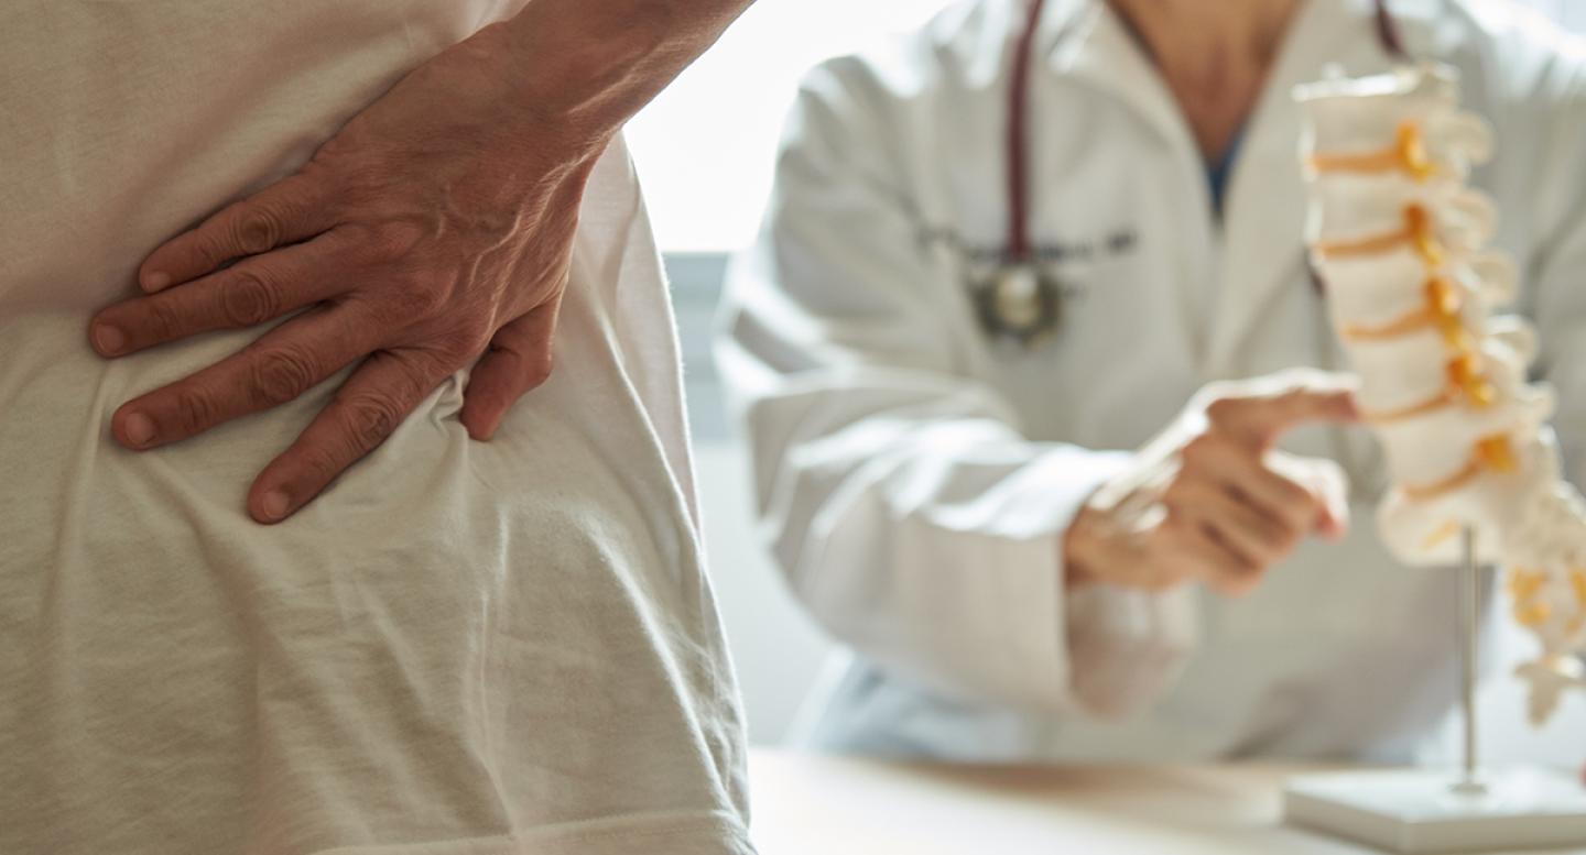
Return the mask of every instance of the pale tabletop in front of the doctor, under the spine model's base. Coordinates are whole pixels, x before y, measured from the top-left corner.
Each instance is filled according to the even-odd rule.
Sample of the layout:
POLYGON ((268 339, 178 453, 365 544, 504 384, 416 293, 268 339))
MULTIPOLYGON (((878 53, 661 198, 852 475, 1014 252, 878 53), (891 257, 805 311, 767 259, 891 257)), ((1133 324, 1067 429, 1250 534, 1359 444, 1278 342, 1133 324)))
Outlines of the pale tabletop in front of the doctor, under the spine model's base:
POLYGON ((1318 768, 945 766, 757 749, 753 838, 761 855, 1373 853, 1281 825, 1283 779, 1304 771, 1318 768))

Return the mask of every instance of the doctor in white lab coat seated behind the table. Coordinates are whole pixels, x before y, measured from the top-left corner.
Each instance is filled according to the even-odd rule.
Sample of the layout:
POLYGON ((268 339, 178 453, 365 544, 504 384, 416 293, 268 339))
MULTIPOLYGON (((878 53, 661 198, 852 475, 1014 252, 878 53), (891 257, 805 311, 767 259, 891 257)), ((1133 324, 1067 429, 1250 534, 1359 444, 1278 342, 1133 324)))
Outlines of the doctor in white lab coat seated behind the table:
POLYGON ((972 0, 806 79, 718 356, 853 651, 817 744, 1404 760, 1448 711, 1453 576, 1386 556, 1347 391, 1293 370, 1340 356, 1289 90, 1399 54, 1497 125, 1477 182, 1578 481, 1586 60, 1518 6, 972 0))

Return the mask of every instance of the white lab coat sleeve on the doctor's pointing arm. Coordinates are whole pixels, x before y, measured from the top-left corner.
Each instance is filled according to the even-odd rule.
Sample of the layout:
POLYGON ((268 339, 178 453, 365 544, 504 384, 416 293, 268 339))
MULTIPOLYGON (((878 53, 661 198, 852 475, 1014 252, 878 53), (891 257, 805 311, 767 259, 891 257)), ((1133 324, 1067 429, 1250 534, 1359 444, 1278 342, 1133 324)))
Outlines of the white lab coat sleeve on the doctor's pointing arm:
POLYGON ((1128 458, 1028 440, 969 375, 967 298, 899 201, 883 112, 841 74, 807 81, 728 277, 717 363, 774 556, 828 632, 909 682, 1126 714, 1186 656, 1193 594, 1066 595, 1061 534, 1128 458))

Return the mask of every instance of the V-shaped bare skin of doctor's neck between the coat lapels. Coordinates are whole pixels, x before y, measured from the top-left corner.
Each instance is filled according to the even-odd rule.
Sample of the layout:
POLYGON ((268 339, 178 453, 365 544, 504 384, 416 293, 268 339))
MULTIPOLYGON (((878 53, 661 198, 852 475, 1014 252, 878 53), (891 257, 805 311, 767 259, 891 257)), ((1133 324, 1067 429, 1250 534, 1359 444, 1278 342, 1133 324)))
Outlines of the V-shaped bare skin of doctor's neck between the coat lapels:
POLYGON ((1218 162, 1261 97, 1301 0, 1109 0, 1218 162))

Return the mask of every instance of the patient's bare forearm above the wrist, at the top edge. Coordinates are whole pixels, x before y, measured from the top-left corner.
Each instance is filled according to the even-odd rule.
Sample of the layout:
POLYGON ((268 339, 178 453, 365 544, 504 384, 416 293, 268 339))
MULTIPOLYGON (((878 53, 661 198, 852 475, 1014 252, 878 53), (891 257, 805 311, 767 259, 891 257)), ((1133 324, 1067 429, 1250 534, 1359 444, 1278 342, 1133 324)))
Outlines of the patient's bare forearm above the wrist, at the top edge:
POLYGON ((531 0, 506 24, 528 101, 604 147, 752 0, 531 0))

